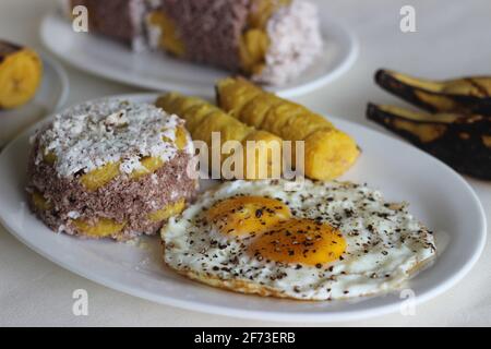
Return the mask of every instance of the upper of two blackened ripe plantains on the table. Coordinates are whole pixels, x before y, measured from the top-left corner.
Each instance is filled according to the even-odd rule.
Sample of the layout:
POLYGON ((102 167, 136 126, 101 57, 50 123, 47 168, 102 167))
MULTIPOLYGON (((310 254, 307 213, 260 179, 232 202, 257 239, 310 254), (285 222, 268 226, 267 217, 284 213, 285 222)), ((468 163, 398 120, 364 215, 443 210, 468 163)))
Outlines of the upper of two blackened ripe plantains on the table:
POLYGON ((375 82, 387 92, 431 112, 491 115, 491 76, 430 81, 379 70, 375 82))

